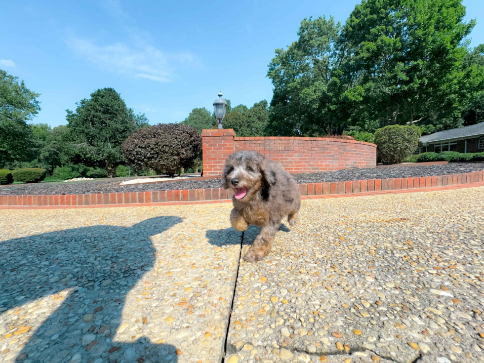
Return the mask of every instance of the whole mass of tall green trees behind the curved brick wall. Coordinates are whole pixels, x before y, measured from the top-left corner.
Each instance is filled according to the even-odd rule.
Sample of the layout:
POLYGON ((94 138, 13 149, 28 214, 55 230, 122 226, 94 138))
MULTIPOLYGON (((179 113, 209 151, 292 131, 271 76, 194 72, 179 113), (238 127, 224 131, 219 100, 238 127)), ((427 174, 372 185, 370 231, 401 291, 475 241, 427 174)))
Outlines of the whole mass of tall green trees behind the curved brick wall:
POLYGON ((462 125, 482 104, 482 49, 471 52, 460 0, 363 0, 341 26, 304 19, 299 39, 276 49, 268 129, 275 135, 374 132, 416 124, 462 125))

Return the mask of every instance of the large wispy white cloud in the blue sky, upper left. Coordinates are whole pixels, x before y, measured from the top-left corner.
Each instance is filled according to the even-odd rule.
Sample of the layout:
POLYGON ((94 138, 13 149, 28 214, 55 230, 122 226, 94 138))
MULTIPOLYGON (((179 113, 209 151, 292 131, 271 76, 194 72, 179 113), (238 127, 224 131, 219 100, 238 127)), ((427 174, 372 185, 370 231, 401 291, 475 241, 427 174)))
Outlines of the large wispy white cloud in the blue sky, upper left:
POLYGON ((140 39, 141 37, 131 34, 130 38, 135 45, 118 42, 100 46, 94 41, 72 35, 66 39, 66 43, 76 54, 101 69, 150 81, 173 81, 177 66, 197 63, 197 57, 191 53, 166 53, 140 39))

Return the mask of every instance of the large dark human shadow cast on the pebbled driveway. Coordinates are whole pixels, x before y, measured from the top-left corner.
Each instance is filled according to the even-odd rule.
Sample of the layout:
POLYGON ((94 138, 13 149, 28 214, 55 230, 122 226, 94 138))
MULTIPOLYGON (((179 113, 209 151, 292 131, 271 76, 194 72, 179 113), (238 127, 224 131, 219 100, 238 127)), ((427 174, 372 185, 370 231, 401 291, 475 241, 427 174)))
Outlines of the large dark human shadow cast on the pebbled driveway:
MULTIPOLYGON (((136 331, 124 341, 116 335, 126 295, 154 266, 150 237, 180 222, 182 218, 162 216, 131 227, 98 225, 0 242, 0 335, 21 338, 19 329, 35 325, 52 302, 62 301, 27 343, 20 339, 22 347, 11 347, 10 360, 8 353, 2 358, 175 363, 172 345, 151 344, 145 337, 134 340, 136 331)), ((4 344, 8 339, 0 343, 2 350, 4 344)))

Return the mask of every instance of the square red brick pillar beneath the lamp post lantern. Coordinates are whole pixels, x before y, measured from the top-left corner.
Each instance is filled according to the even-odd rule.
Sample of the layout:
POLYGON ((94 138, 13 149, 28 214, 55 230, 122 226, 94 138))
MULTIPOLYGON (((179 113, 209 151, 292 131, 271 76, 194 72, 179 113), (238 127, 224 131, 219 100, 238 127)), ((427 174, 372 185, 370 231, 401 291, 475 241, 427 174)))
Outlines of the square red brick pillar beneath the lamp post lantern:
POLYGON ((234 153, 232 128, 202 131, 203 176, 221 175, 225 159, 234 153))

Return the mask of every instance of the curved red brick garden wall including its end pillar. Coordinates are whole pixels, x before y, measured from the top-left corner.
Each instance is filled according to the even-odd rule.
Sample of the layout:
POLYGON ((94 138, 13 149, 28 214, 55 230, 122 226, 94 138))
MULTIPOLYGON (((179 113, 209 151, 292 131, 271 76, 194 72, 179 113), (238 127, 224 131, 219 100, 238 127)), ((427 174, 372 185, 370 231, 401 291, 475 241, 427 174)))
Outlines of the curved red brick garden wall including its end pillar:
POLYGON ((225 159, 255 150, 290 173, 376 166, 376 145, 321 137, 236 137, 233 129, 203 130, 203 175, 220 175, 225 159))

